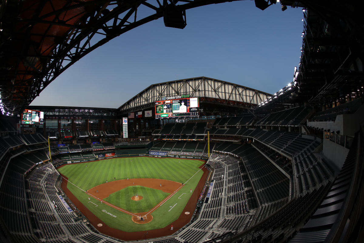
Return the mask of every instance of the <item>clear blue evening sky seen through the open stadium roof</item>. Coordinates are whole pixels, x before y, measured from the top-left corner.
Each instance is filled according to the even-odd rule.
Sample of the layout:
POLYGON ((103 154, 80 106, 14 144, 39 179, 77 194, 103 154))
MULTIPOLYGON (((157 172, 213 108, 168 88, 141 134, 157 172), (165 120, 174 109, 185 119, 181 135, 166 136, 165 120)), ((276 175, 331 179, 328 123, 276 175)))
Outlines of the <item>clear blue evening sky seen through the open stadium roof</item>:
POLYGON ((302 17, 237 1, 187 10, 183 30, 160 18, 80 59, 31 105, 117 108, 151 84, 201 76, 273 94, 300 61, 302 17))

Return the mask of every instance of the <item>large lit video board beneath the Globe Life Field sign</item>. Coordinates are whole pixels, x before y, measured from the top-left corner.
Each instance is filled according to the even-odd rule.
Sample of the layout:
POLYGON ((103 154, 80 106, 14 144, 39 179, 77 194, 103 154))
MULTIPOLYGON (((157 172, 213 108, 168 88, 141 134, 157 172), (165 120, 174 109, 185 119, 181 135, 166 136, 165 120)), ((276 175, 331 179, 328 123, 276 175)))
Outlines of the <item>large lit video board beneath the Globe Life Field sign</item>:
MULTIPOLYGON (((199 117, 198 98, 166 99, 155 102, 155 119, 199 117)), ((169 97, 167 97, 169 98, 169 97)))

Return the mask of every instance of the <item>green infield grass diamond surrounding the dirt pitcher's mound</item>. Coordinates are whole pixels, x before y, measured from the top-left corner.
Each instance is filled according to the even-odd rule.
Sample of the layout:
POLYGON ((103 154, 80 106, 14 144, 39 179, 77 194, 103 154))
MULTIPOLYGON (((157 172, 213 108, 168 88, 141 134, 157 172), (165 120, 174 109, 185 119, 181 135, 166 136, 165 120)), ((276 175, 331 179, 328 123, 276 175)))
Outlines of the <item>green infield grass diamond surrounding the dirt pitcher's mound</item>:
POLYGON ((120 191, 114 192, 104 200, 129 212, 138 213, 149 212, 150 209, 169 195, 170 193, 163 192, 161 190, 137 185, 126 187, 120 191), (142 196, 143 199, 139 201, 131 200, 131 197, 137 194, 142 196))

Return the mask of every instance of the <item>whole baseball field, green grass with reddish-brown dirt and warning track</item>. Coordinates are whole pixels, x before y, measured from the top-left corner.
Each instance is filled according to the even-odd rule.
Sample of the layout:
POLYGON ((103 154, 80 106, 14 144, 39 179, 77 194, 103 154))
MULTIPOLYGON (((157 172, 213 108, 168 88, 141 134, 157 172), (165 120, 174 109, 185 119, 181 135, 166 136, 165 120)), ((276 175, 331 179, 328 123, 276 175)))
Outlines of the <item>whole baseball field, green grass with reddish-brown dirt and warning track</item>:
MULTIPOLYGON (((205 168, 200 169, 203 163, 179 158, 112 158, 67 164, 58 171, 67 196, 92 218, 97 230, 115 229, 120 231, 117 238, 130 240, 124 237, 130 235, 127 233, 166 230, 181 217, 193 214, 184 210, 192 195, 194 206, 190 208, 195 207, 201 186, 200 191, 195 189, 205 182, 201 180, 206 174, 205 168)), ((133 239, 146 237, 141 235, 133 239)))

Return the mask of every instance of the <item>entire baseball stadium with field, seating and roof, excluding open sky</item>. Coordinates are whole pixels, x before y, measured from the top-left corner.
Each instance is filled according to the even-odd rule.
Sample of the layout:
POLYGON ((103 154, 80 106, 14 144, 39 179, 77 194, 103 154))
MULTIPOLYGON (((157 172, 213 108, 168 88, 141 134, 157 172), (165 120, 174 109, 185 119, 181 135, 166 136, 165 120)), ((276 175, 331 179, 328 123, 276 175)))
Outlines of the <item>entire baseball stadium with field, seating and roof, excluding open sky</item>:
POLYGON ((300 62, 274 94, 190 77, 117 109, 31 105, 108 41, 225 2, 2 1, 1 242, 363 242, 360 1, 254 0, 302 9, 300 62))

